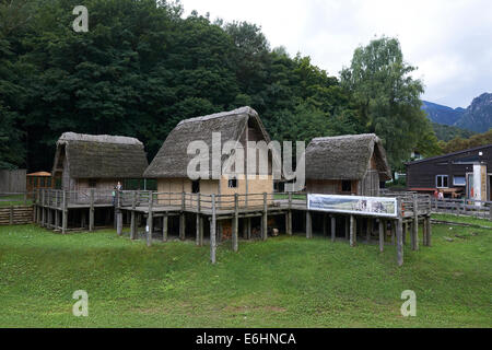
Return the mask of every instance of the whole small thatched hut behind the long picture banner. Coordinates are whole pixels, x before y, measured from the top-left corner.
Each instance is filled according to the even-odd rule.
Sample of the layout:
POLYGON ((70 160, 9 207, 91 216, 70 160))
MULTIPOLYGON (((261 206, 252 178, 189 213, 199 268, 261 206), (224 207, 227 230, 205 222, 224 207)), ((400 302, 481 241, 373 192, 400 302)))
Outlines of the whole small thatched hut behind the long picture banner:
POLYGON ((380 139, 374 133, 316 138, 306 148, 306 190, 377 196, 391 178, 380 139))

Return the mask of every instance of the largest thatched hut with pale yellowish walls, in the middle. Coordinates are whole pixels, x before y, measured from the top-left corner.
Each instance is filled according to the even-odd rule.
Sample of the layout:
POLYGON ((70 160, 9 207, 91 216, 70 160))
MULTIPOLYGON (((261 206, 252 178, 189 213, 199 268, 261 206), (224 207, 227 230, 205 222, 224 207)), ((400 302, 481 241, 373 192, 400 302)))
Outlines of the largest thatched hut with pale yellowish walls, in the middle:
MULTIPOLYGON (((268 174, 265 174, 266 176, 262 176, 262 178, 259 176, 249 179, 248 176, 230 178, 224 174, 220 179, 213 178, 212 159, 214 155, 212 150, 218 147, 218 144, 212 144, 213 132, 221 133, 220 143, 222 147, 226 141, 237 142, 244 149, 245 163, 248 152, 251 152, 247 147, 248 141, 270 142, 270 137, 258 114, 250 107, 241 107, 231 112, 181 120, 167 136, 157 155, 147 168, 144 176, 157 178, 157 190, 161 192, 184 191, 206 195, 272 192, 271 152, 268 152, 268 174), (187 174, 188 164, 196 156, 187 153, 188 144, 192 141, 203 141, 210 152, 209 176, 200 177, 197 180, 190 179, 187 174)), ((215 143, 219 142, 215 141, 215 143)), ((256 152, 256 149, 254 151, 256 152)), ((227 161, 227 155, 223 155, 219 160, 222 166, 227 161)), ((245 164, 245 172, 246 168, 245 164)))

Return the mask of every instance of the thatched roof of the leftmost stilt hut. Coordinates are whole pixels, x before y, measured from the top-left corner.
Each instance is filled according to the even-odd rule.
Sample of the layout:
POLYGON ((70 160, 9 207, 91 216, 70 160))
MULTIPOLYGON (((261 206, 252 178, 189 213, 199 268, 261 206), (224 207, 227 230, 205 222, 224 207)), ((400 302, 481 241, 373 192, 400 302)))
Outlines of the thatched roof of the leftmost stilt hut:
POLYGON ((139 178, 149 165, 134 138, 65 132, 57 141, 54 174, 65 148, 72 178, 139 178))

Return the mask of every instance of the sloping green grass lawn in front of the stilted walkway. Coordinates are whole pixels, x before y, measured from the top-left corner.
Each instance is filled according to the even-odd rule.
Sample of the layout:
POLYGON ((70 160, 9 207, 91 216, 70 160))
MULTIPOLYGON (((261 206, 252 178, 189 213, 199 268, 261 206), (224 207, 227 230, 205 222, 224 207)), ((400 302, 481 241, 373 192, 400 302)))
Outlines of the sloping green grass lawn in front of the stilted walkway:
POLYGON ((394 246, 301 235, 224 244, 211 265, 192 242, 0 226, 0 327, 492 327, 490 233, 434 225, 402 267, 394 246), (89 317, 72 315, 75 290, 89 317))

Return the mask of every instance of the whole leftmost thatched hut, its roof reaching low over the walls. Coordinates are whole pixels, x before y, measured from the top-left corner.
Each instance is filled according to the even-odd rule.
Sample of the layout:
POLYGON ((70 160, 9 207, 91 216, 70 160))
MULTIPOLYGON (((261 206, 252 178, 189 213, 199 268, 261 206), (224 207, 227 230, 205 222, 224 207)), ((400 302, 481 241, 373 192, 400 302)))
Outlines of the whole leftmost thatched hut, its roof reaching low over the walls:
POLYGON ((65 132, 52 174, 61 189, 113 189, 117 182, 141 178, 148 165, 143 143, 134 138, 65 132))

